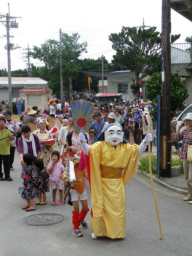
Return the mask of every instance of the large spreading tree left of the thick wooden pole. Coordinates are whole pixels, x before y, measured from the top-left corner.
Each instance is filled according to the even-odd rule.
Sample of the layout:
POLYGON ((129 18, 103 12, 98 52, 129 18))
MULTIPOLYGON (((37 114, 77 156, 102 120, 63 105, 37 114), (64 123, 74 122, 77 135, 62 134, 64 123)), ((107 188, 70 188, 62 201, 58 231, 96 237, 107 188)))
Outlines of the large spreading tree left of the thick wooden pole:
MULTIPOLYGON (((171 41, 174 42, 179 37, 180 35, 172 35, 171 41)), ((138 81, 161 70, 161 34, 156 31, 156 27, 142 29, 123 26, 119 34, 109 36, 109 41, 116 51, 112 63, 127 66, 134 73, 131 90, 134 95, 138 95, 138 81)))

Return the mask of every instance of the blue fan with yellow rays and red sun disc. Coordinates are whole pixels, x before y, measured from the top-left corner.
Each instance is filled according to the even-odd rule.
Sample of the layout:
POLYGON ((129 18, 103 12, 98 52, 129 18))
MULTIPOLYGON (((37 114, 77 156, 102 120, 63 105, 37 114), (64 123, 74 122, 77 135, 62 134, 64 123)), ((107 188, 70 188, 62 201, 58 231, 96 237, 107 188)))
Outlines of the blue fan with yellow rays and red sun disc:
POLYGON ((78 132, 86 132, 91 124, 94 105, 88 101, 78 100, 70 103, 74 127, 78 132))

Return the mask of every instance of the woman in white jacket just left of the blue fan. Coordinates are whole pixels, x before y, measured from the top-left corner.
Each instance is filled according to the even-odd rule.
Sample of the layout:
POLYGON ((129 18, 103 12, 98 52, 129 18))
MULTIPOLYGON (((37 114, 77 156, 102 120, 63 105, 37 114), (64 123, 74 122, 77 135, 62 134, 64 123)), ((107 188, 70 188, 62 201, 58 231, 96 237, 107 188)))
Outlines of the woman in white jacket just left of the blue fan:
POLYGON ((61 154, 63 154, 63 152, 64 152, 64 146, 66 145, 66 136, 67 136, 67 134, 71 133, 74 130, 75 130, 75 128, 73 127, 73 118, 70 115, 68 117, 68 125, 63 127, 60 130, 60 133, 59 133, 59 136, 58 136, 58 141, 59 141, 60 144, 62 144, 61 154))

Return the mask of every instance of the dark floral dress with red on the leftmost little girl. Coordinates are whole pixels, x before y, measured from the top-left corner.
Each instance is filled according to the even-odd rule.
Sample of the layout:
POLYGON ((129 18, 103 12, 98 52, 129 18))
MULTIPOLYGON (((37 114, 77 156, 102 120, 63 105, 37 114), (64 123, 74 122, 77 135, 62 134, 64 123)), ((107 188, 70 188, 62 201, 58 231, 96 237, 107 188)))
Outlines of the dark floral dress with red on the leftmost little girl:
POLYGON ((23 177, 23 190, 21 197, 23 199, 33 199, 39 196, 38 184, 38 172, 33 165, 24 167, 23 177), (35 182, 35 183, 33 183, 35 182))

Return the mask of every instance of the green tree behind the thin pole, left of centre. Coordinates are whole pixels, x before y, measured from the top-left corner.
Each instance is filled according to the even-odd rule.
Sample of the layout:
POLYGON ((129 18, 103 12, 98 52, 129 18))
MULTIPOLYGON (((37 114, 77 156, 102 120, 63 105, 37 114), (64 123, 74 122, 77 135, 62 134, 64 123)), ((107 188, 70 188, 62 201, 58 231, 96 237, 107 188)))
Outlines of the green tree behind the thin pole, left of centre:
MULTIPOLYGON (((68 88, 70 100, 72 99, 72 80, 78 76, 78 70, 81 66, 78 64, 78 58, 83 52, 86 52, 87 43, 78 43, 80 35, 73 33, 69 36, 62 33, 62 58, 63 58, 63 78, 64 90, 68 88)), ((60 97, 60 42, 56 40, 47 40, 41 47, 34 46, 34 51, 29 55, 34 59, 41 60, 45 66, 38 72, 44 77, 47 76, 49 88, 53 94, 60 97)))

